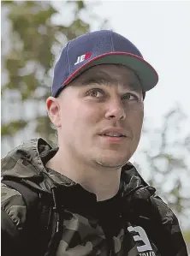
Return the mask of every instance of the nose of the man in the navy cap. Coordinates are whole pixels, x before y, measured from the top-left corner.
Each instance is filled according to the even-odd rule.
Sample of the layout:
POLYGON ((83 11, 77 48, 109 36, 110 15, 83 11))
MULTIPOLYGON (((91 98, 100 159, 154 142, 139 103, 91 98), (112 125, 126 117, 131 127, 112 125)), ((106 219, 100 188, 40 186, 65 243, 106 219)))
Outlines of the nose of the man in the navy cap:
POLYGON ((105 117, 107 119, 116 119, 118 121, 126 118, 126 113, 121 99, 114 99, 110 101, 105 117))

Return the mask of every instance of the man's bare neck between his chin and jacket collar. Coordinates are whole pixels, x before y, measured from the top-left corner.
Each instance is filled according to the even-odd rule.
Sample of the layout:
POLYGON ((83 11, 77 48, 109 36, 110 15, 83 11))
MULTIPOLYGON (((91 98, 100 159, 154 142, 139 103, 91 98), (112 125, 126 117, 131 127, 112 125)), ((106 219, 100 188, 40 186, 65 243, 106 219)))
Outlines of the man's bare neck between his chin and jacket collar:
POLYGON ((62 157, 61 151, 58 151, 46 166, 79 183, 87 191, 95 193, 98 201, 114 197, 119 190, 121 169, 111 170, 98 164, 92 167, 90 164, 74 162, 73 158, 67 158, 66 154, 62 157))

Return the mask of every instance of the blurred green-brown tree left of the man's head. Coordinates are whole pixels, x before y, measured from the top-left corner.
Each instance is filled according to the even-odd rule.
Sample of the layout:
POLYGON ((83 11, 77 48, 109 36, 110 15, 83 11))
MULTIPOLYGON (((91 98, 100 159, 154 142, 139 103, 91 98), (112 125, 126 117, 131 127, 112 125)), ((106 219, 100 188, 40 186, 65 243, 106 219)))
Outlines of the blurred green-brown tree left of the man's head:
MULTIPOLYGON (((90 28, 89 23, 80 18, 81 12, 86 11, 86 4, 62 1, 65 13, 70 8, 69 25, 64 26, 52 22, 59 11, 50 2, 2 2, 3 153, 17 145, 21 138, 26 140, 34 134, 56 142, 45 110, 52 67, 62 46, 89 32, 90 28)), ((99 20, 99 24, 104 25, 104 21, 99 20)))

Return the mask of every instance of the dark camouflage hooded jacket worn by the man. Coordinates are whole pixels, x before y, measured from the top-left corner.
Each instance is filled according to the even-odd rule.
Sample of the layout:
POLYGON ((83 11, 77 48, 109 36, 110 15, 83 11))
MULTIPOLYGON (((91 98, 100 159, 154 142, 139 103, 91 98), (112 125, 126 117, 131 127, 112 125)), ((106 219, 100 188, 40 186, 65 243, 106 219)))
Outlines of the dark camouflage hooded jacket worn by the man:
MULTIPOLYGON (((121 188, 116 196, 97 202, 95 195, 79 184, 45 168, 55 153, 56 149, 45 140, 29 140, 3 158, 2 176, 7 180, 20 180, 39 194, 54 196, 57 204, 63 205, 59 219, 63 229, 56 256, 187 256, 175 214, 132 164, 123 166, 121 188)), ((22 233, 28 215, 21 193, 2 182, 3 255, 9 255, 7 251, 10 255, 22 255, 19 252, 22 245, 27 244, 22 233)), ((30 222, 33 227, 37 226, 31 243, 37 253, 33 255, 39 255, 34 239, 38 235, 38 225, 33 217, 30 222)), ((27 229, 27 233, 30 232, 27 229)), ((25 255, 30 255, 32 247, 27 246, 25 255)))

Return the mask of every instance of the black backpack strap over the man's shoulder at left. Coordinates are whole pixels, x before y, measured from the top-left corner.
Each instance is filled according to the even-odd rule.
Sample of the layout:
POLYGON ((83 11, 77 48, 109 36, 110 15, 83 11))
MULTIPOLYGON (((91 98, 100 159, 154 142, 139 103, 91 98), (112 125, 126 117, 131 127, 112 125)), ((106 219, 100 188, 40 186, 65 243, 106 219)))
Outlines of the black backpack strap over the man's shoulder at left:
POLYGON ((33 191, 21 180, 3 180, 3 184, 21 193, 27 206, 27 220, 23 229, 23 252, 26 255, 42 256, 48 247, 51 237, 51 204, 50 196, 33 191), (30 232, 28 232, 30 230, 30 232))

